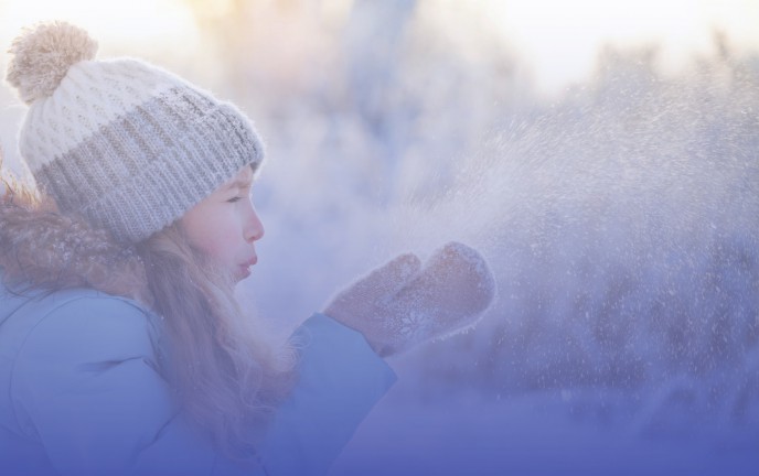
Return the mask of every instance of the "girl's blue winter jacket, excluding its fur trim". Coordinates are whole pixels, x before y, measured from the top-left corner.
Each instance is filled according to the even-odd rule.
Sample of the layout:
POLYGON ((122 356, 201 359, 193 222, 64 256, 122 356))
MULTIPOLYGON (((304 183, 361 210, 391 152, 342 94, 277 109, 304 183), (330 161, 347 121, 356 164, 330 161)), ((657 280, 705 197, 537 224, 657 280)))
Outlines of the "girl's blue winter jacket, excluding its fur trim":
POLYGON ((363 336, 314 314, 299 381, 243 470, 172 404, 156 316, 93 290, 13 294, 0 285, 0 474, 317 475, 395 381, 363 336))

